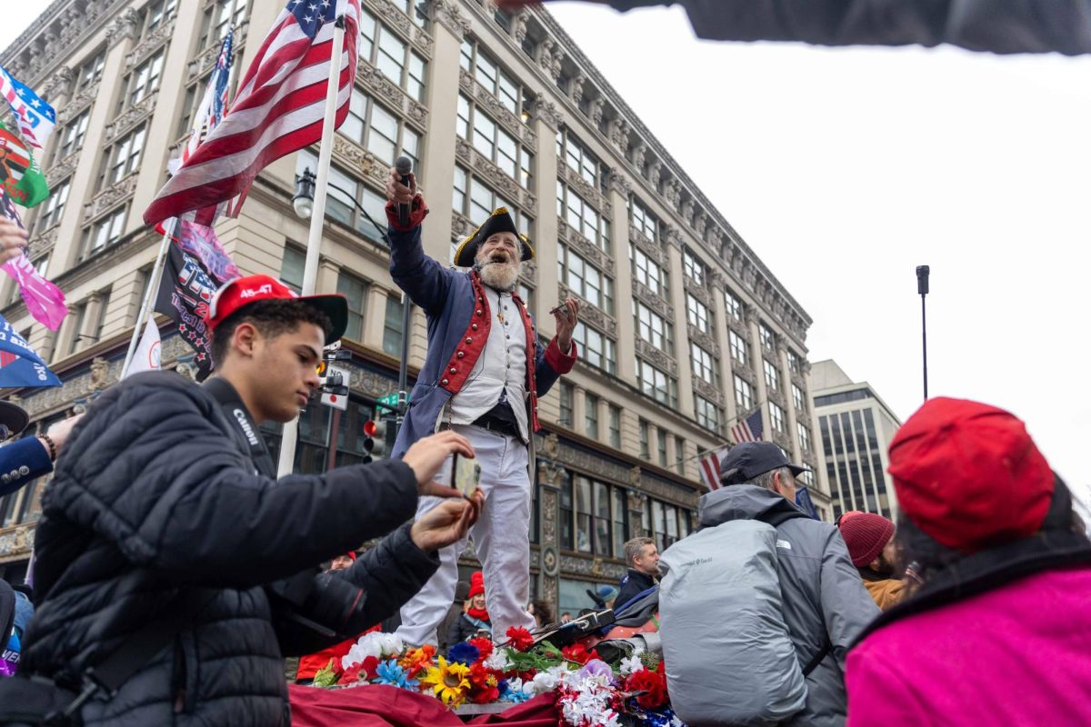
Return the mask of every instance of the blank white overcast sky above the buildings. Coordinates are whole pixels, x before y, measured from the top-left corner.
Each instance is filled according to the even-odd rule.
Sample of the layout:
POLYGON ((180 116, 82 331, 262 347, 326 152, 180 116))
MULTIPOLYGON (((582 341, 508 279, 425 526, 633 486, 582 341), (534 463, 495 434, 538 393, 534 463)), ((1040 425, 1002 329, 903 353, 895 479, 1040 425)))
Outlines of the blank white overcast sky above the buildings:
MULTIPOLYGON (((41 9, 7 4, 0 48, 41 9)), ((812 361, 909 416, 927 264, 930 393, 1011 410, 1091 485, 1091 59, 715 44, 680 9, 550 8, 814 318, 812 361)))

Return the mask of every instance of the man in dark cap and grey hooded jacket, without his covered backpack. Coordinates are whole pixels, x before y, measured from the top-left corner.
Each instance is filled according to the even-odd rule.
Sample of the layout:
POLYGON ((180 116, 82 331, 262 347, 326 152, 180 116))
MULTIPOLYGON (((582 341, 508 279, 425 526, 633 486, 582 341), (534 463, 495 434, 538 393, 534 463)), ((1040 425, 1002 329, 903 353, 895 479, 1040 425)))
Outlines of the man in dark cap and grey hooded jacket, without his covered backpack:
MULTIPOLYGON (((844 724, 844 663, 850 644, 879 615, 837 528, 812 520, 795 502, 795 475, 771 441, 731 448, 720 464, 723 487, 700 498, 698 526, 729 520, 778 520, 777 570, 788 626, 800 665, 820 658, 807 675, 807 701, 788 725, 834 727, 844 724), (825 655, 823 655, 825 654, 825 655)), ((723 620, 730 626, 730 617, 723 620)))

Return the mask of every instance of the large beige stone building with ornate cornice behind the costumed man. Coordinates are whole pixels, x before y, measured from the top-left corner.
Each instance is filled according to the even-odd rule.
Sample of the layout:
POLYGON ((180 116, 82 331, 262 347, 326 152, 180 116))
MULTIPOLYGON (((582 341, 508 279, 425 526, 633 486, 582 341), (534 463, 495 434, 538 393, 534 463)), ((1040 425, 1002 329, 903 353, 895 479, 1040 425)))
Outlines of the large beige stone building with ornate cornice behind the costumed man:
MULTIPOLYGON (((401 301, 368 217, 399 152, 417 161, 431 207, 427 251, 452 244, 507 205, 536 242, 521 292, 548 312, 584 301, 582 362, 541 402, 536 592, 562 608, 624 572, 620 545, 668 546, 695 524, 698 453, 760 407, 793 459, 822 461, 806 361, 811 318, 697 189, 548 12, 512 15, 490 0, 362 0, 360 64, 336 135, 317 288, 352 316, 349 411, 302 419, 297 464, 359 458, 360 426, 395 389, 401 301), (348 197, 351 197, 349 199, 348 197), (367 214, 361 213, 360 209, 367 214), (327 441, 335 425, 331 456, 327 441)), ((178 156, 235 27, 237 84, 281 3, 273 0, 56 0, 0 62, 58 109, 39 160, 53 196, 26 214, 32 257, 68 296, 56 334, 35 324, 10 281, 3 315, 64 380, 20 391, 41 427, 116 380, 158 245, 141 214, 178 156)), ((314 149, 271 165, 238 219, 217 228, 244 272, 300 284, 307 220, 291 196, 314 149)), ((191 352, 159 319, 168 367, 191 352)), ((410 374, 423 361, 415 311, 410 374)), ((269 431, 276 445, 278 433, 269 431)), ((830 516, 825 471, 814 499, 830 516)), ((25 562, 44 483, 0 504, 0 561, 25 562)))

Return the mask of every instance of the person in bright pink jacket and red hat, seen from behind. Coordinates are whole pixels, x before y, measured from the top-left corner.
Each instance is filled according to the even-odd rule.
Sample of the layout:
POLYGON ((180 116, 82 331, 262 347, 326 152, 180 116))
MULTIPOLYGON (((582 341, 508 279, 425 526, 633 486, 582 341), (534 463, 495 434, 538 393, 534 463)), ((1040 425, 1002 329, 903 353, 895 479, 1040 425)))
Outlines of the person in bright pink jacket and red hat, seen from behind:
POLYGON ((889 471, 924 582, 849 652, 848 727, 1091 725, 1091 542, 1023 423, 932 399, 889 471))

